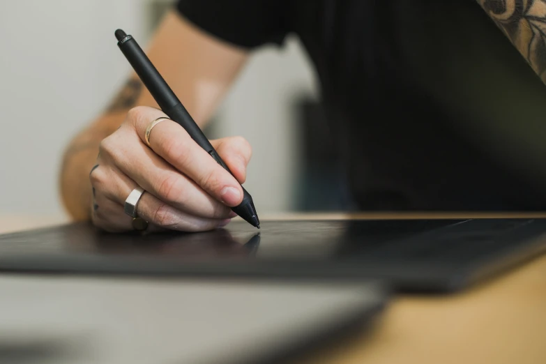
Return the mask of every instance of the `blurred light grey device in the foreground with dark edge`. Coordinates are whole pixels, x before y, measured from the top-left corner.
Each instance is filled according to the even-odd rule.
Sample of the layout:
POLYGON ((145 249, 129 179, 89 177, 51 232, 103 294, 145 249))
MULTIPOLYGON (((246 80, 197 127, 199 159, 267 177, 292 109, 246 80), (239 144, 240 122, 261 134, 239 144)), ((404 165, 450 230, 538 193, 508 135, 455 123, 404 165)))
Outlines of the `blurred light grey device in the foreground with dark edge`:
POLYGON ((0 276, 2 364, 277 364, 361 335, 383 287, 0 276))

